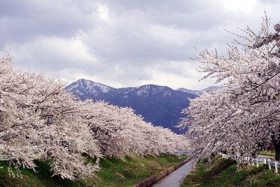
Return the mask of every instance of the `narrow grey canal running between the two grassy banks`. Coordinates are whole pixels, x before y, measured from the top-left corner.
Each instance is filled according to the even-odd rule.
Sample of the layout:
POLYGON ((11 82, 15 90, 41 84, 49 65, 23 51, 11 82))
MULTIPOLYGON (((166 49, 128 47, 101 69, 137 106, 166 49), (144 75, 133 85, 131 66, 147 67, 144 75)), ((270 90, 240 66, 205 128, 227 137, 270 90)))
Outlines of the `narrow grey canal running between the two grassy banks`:
POLYGON ((182 165, 178 169, 174 170, 174 172, 167 174, 167 176, 162 179, 156 181, 148 187, 178 187, 183 183, 183 180, 186 178, 190 169, 193 168, 193 160, 186 162, 186 164, 182 165))

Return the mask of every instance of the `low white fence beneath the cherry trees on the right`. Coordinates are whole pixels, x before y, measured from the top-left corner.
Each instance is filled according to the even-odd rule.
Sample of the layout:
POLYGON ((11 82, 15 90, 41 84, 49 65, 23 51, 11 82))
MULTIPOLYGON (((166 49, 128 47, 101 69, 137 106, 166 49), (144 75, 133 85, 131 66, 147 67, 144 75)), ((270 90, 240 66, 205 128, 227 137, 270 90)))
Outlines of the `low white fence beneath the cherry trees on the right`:
POLYGON ((238 155, 227 155, 227 154, 223 154, 223 153, 218 153, 219 155, 221 155, 223 158, 227 158, 227 159, 232 159, 232 160, 238 160, 241 161, 242 163, 244 162, 248 162, 248 165, 254 165, 254 163, 258 164, 267 164, 269 169, 271 169, 271 167, 273 166, 275 168, 275 172, 278 172, 278 168, 280 168, 280 162, 279 161, 275 161, 275 160, 270 160, 270 159, 265 159, 265 158, 251 158, 251 157, 241 157, 238 155))

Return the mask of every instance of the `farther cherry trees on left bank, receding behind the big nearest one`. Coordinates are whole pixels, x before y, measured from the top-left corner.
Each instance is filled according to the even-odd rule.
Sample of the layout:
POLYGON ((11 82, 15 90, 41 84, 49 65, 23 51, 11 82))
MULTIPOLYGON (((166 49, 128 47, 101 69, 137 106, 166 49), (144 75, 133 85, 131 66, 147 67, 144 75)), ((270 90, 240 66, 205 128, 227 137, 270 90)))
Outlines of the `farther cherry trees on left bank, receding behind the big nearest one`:
POLYGON ((106 102, 84 101, 83 118, 97 139, 102 154, 107 156, 160 154, 166 151, 186 151, 188 141, 169 129, 146 123, 128 107, 106 102))

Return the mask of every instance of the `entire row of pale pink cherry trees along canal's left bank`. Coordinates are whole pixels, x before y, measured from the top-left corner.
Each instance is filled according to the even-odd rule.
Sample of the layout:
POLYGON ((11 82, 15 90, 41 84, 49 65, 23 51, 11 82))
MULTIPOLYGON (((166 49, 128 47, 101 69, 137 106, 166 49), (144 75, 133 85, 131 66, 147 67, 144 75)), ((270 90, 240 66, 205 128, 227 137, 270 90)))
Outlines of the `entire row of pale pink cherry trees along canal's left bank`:
POLYGON ((185 137, 146 123, 132 109, 82 102, 59 79, 21 71, 11 60, 0 58, 0 152, 10 169, 34 169, 41 159, 53 174, 75 179, 94 175, 102 156, 186 150, 185 137), (85 164, 85 155, 97 162, 85 164))

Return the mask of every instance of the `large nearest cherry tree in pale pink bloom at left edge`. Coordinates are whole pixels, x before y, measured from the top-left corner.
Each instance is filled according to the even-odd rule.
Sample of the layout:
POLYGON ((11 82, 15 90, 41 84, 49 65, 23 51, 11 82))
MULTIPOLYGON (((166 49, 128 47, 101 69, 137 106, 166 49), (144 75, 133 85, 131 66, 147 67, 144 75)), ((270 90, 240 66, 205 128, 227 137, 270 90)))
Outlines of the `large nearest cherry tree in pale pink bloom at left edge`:
POLYGON ((85 165, 81 154, 99 155, 99 148, 79 115, 81 102, 62 81, 22 72, 11 60, 0 59, 0 151, 16 169, 34 169, 34 159, 43 159, 62 178, 93 175, 98 165, 85 165))

